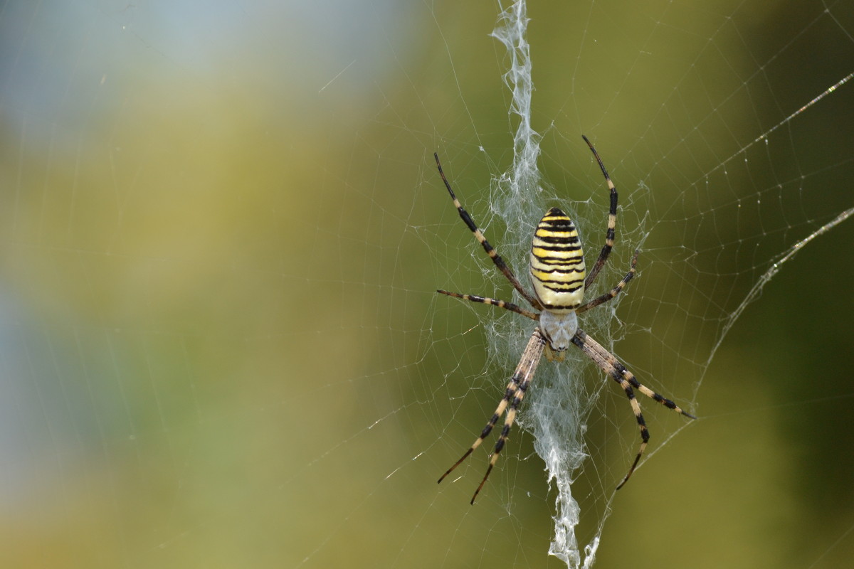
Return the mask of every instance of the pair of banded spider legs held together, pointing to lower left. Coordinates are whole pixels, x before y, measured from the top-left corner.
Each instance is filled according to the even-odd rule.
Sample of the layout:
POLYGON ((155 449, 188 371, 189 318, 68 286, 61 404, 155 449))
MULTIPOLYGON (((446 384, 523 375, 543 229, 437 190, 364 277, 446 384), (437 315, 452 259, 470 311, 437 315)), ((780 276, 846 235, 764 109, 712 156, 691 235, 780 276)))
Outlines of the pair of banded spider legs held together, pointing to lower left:
POLYGON ((468 458, 468 456, 471 455, 471 453, 477 449, 481 443, 483 443, 483 439, 487 438, 489 433, 492 432, 493 427, 506 410, 507 414, 504 420, 504 427, 501 428, 498 442, 495 443, 492 456, 489 458, 489 466, 486 469, 486 473, 483 475, 483 479, 481 480, 480 485, 477 486, 477 490, 474 495, 471 496, 471 504, 475 503, 477 494, 480 493, 483 485, 486 484, 486 480, 489 478, 489 473, 492 472, 495 463, 498 462, 498 457, 501 450, 504 448, 507 435, 510 434, 510 428, 513 425, 513 421, 516 420, 516 414, 518 413, 519 405, 522 404, 525 391, 528 389, 531 380, 534 379, 534 373, 540 363, 542 351, 545 345, 546 339, 540 332, 540 328, 534 328, 534 334, 531 334, 530 340, 528 340, 528 345, 525 346, 525 350, 522 352, 522 358, 519 360, 516 371, 513 372, 510 383, 507 384, 504 398, 501 399, 500 404, 498 404, 498 407, 495 409, 495 412, 489 419, 486 427, 483 427, 483 433, 481 433, 480 437, 475 440, 474 444, 471 444, 469 450, 465 451, 463 456, 459 458, 459 461, 454 462, 453 466, 448 468, 447 472, 442 474, 442 477, 439 479, 439 482, 441 483, 448 474, 453 472, 454 468, 459 467, 459 465, 465 461, 465 459, 468 458), (510 409, 507 409, 508 406, 510 409))

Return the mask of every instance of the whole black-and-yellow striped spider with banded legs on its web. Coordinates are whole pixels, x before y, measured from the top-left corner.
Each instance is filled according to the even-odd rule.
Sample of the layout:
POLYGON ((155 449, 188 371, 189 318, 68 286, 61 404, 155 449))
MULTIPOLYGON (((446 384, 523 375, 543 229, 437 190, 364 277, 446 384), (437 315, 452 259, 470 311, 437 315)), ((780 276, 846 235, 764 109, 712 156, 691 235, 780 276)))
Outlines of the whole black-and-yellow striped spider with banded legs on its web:
POLYGON ((593 152, 596 161, 599 163, 600 170, 605 176, 605 182, 608 183, 608 188, 611 190, 611 208, 608 211, 608 228, 605 232, 605 246, 602 247, 599 253, 599 258, 593 269, 589 273, 585 271, 584 253, 582 251, 582 243, 578 238, 578 231, 572 220, 559 208, 553 207, 546 215, 541 218, 534 232, 534 241, 531 245, 529 271, 531 283, 534 286, 534 293, 531 294, 522 286, 516 275, 509 266, 504 262, 504 259, 495 251, 494 247, 489 245, 483 232, 477 229, 477 224, 466 212, 463 206, 459 203, 457 196, 453 194, 451 184, 448 183, 445 172, 442 171, 442 164, 439 162, 439 155, 433 154, 436 159, 436 168, 439 170, 439 175, 442 176, 442 182, 445 183, 447 193, 451 195, 453 205, 457 207, 459 217, 465 222, 471 233, 475 235, 475 239, 483 246, 484 251, 488 254, 492 262, 506 276, 506 279, 513 287, 521 294, 528 304, 536 311, 528 311, 511 302, 504 300, 490 299, 476 294, 460 294, 451 293, 447 290, 438 290, 437 293, 447 294, 458 299, 470 300, 471 302, 480 302, 484 305, 493 305, 503 308, 507 311, 516 312, 535 322, 539 322, 539 326, 534 328, 531 334, 528 345, 525 347, 522 357, 518 363, 516 371, 512 374, 510 382, 507 384, 504 398, 501 399, 498 407, 495 409, 492 417, 483 427, 483 432, 471 444, 469 450, 466 450, 459 461, 454 462, 453 466, 447 469, 447 472, 442 474, 439 479, 441 483, 448 474, 452 473, 456 467, 465 461, 471 453, 483 443, 483 440, 492 432, 493 427, 499 421, 501 415, 506 413, 504 419, 504 427, 501 428, 501 433, 498 441, 495 443, 495 448, 492 455, 489 457, 489 466, 486 473, 483 475, 480 485, 474 495, 471 496, 471 504, 474 504, 477 494, 483 489, 489 478, 489 473, 492 472, 495 463, 498 462, 498 457, 504 444, 507 440, 507 435, 516 419, 519 405, 522 404, 525 392, 528 390, 531 381, 534 379, 534 374, 537 365, 540 363, 543 351, 546 352, 546 357, 549 361, 562 361, 564 359, 564 351, 570 344, 576 345, 581 351, 596 363, 605 372, 617 381, 623 388, 626 396, 629 398, 629 403, 632 406, 632 411, 635 413, 638 427, 640 428, 640 449, 635 456, 635 461, 629 467, 629 472, 623 477, 623 481, 617 485, 617 490, 629 481, 629 477, 635 472, 640 461, 640 456, 646 449, 646 444, 649 442, 649 431, 646 429, 646 422, 643 415, 640 413, 640 404, 635 398, 635 389, 648 398, 652 398, 658 403, 663 404, 669 409, 673 409, 681 415, 685 415, 689 419, 696 419, 694 415, 690 415, 679 408, 670 399, 664 398, 656 392, 653 392, 648 387, 641 384, 635 379, 632 374, 622 363, 617 361, 611 352, 605 350, 596 340, 585 334, 581 328, 578 328, 577 315, 586 312, 591 308, 595 308, 608 300, 613 299, 629 284, 632 277, 635 276, 635 266, 637 264, 639 250, 635 251, 632 256, 631 267, 623 280, 617 283, 616 287, 601 296, 588 300, 582 304, 584 298, 584 289, 589 288, 596 276, 599 275, 602 267, 605 266, 605 261, 611 254, 611 249, 614 247, 615 228, 617 227, 617 188, 611 182, 611 177, 608 176, 608 171, 605 170, 605 165, 596 152, 593 144, 590 143, 587 136, 582 136, 584 142, 587 142, 588 147, 593 152), (585 276, 586 273, 586 276, 585 276))

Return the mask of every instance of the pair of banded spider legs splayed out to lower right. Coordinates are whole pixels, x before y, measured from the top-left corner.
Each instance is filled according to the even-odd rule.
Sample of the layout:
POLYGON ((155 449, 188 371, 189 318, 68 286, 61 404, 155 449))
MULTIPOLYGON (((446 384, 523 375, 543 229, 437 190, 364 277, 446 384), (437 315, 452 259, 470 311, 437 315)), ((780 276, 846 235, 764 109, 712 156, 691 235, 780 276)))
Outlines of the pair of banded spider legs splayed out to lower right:
POLYGON ((658 403, 663 404, 664 407, 668 409, 673 409, 677 413, 681 415, 685 415, 689 419, 696 419, 694 415, 690 415, 679 408, 675 403, 670 401, 668 398, 664 398, 656 392, 653 392, 652 389, 646 387, 638 380, 635 379, 635 375, 632 374, 626 367, 617 361, 617 358, 614 357, 610 351, 605 350, 596 340, 588 336, 584 333, 582 329, 578 329, 576 331, 576 335, 572 337, 572 343, 577 345, 581 350, 590 357, 604 371, 606 374, 611 375, 611 377, 623 387, 623 391, 626 392, 626 397, 629 398, 629 402, 632 405, 632 411, 635 413, 635 419, 638 421, 638 428, 640 428, 640 449, 638 449, 638 454, 635 456, 635 462, 632 462, 632 466, 629 468, 629 472, 626 473, 623 481, 617 485, 617 490, 623 487, 623 485, 629 481, 629 477, 632 473, 635 472, 635 467, 637 467, 638 462, 640 462, 640 456, 643 455, 643 451, 646 449, 646 444, 649 442, 649 431, 646 429, 646 421, 643 419, 643 415, 640 413, 640 404, 635 398, 635 391, 632 389, 633 387, 639 392, 646 395, 648 398, 652 398, 658 403))

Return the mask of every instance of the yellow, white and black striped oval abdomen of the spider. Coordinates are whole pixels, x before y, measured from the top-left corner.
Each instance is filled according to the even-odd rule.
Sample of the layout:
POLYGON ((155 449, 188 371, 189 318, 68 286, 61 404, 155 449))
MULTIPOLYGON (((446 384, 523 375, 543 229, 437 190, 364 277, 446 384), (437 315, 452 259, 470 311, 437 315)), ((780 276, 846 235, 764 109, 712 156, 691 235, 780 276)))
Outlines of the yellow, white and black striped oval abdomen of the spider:
POLYGON ((572 220, 557 207, 548 210, 534 232, 531 282, 547 311, 573 311, 584 298, 584 252, 572 220))

